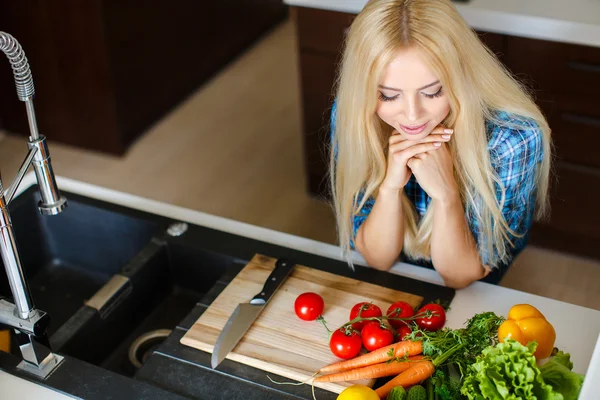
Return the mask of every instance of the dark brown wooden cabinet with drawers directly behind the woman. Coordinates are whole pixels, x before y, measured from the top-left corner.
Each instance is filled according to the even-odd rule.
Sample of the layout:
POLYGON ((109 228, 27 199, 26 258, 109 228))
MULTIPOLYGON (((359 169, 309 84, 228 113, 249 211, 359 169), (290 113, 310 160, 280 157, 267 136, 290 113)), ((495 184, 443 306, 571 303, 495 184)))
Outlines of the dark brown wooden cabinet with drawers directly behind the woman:
MULTIPOLYGON (((355 14, 292 8, 298 33, 304 161, 308 191, 328 198, 329 119, 346 29, 355 14)), ((531 243, 600 259, 600 49, 478 32, 526 86, 552 128, 555 163, 550 219, 531 243)))

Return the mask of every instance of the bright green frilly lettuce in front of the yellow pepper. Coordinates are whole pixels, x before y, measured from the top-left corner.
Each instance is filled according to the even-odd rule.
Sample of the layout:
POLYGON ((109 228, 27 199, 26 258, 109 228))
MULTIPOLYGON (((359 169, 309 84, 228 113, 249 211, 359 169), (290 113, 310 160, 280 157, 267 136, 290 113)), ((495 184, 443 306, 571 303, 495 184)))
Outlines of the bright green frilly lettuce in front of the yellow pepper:
POLYGON ((536 347, 512 339, 487 347, 468 367, 461 393, 469 400, 564 400, 544 382, 533 356, 536 347))

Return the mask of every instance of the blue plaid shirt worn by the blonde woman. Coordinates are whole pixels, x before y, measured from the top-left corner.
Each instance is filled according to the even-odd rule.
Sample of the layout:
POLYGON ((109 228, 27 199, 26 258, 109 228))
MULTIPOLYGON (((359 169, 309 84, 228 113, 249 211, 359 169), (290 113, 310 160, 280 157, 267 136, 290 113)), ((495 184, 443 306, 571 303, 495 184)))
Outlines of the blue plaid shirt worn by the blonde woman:
MULTIPOLYGON (((335 130, 336 105, 331 112, 331 135, 335 130)), ((486 123, 488 137, 488 150, 491 164, 504 186, 504 206, 502 214, 510 228, 524 236, 510 236, 514 247, 510 245, 511 259, 514 259, 527 244, 527 232, 531 227, 534 215, 536 172, 538 164, 544 157, 542 133, 532 120, 518 118, 506 112, 498 112, 497 119, 501 123, 486 123)), ((419 186, 414 175, 411 176, 404 187, 408 198, 422 217, 431 202, 431 197, 419 186)), ((498 202, 502 199, 502 188, 496 184, 496 197, 498 202)), ((360 199, 360 197, 359 197, 360 199)), ((356 237, 358 228, 367 219, 375 199, 369 198, 359 213, 353 216, 353 237, 356 237)), ((472 213, 466 214, 469 227, 475 241, 480 244, 481 238, 478 221, 472 213)), ((351 243, 354 246, 354 243, 351 243)), ((487 257, 481 255, 482 262, 490 265, 487 257)), ((506 269, 507 265, 496 265, 506 269)), ((503 271, 505 272, 505 271, 503 271)))

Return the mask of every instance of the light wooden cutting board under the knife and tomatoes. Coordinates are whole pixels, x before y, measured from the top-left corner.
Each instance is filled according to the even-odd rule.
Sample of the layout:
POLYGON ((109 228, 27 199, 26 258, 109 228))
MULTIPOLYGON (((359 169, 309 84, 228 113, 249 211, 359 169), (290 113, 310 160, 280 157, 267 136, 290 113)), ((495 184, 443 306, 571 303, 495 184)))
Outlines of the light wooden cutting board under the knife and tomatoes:
MULTIPOLYGON (((219 333, 237 305, 249 302, 262 290, 275 262, 273 258, 256 255, 200 316, 181 343, 212 353, 219 333)), ((227 358, 300 382, 308 381, 321 367, 340 361, 329 350, 325 328, 317 321, 302 321, 296 316, 294 301, 304 292, 323 297, 323 317, 331 330, 348 322, 350 309, 361 301, 372 301, 385 312, 395 301, 406 301, 416 307, 423 300, 420 296, 296 265, 227 358)), ((315 386, 339 393, 354 383, 372 386, 374 382, 371 379, 315 386)))

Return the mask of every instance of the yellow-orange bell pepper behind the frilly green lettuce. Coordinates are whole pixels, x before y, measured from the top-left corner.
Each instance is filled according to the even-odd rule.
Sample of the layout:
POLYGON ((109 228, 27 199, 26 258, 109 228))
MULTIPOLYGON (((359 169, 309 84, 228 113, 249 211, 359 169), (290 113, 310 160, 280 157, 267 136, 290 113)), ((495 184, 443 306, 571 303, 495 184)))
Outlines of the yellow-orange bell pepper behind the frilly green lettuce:
POLYGON ((508 312, 508 318, 498 328, 498 338, 512 338, 522 345, 534 340, 538 347, 533 354, 538 360, 550 357, 554 349, 556 332, 539 310, 529 304, 517 304, 508 312))

